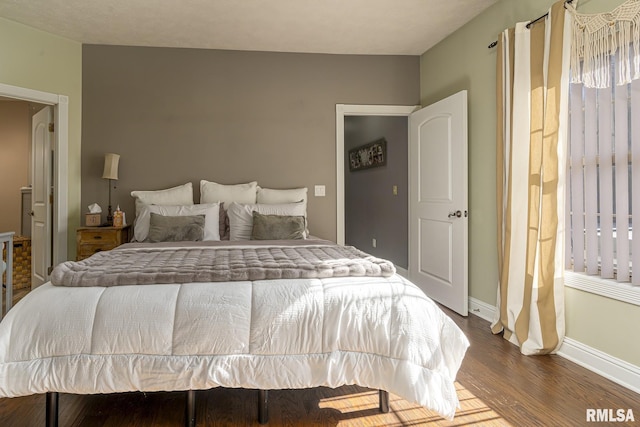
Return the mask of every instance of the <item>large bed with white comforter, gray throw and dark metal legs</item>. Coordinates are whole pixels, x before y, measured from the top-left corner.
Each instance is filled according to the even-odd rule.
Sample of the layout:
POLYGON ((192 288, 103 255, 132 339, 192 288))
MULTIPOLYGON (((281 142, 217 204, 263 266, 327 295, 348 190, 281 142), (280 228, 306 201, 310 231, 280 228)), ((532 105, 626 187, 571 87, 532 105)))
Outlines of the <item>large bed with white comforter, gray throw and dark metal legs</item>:
MULTIPOLYGON (((194 390, 242 387, 261 391, 264 423, 268 390, 357 384, 381 390, 382 409, 391 392, 452 418, 469 345, 455 323, 392 263, 311 238, 306 221, 282 225, 306 207, 301 215, 264 214, 267 237, 272 220, 276 234, 295 229, 302 237, 254 239, 264 219, 258 205, 266 204, 229 204, 230 240, 219 240, 221 225, 212 231, 224 222, 215 203, 193 205, 189 215, 147 212, 146 236, 136 224, 144 242, 57 266, 51 282, 0 323, 0 396, 47 393, 53 425, 60 392, 184 390, 194 425, 194 390), (249 239, 236 210, 254 221, 249 239), (178 239, 194 216, 214 236, 150 241, 159 219, 179 216, 178 239)), ((143 222, 149 206, 139 205, 143 222)))

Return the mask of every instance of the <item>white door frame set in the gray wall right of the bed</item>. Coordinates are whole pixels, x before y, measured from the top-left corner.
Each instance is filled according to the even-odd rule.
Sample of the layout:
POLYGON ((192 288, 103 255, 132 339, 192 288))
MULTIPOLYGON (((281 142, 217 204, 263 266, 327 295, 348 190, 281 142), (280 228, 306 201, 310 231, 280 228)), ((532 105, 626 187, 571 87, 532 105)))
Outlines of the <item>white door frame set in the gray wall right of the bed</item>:
MULTIPOLYGON (((419 105, 336 104, 336 243, 344 245, 344 118, 346 116, 405 116, 420 109, 419 105)), ((409 123, 407 120, 407 130, 409 123)), ((409 140, 407 140, 409 145, 409 140)), ((408 159, 407 159, 408 160, 408 159)), ((409 171, 407 168, 407 177, 409 171)))

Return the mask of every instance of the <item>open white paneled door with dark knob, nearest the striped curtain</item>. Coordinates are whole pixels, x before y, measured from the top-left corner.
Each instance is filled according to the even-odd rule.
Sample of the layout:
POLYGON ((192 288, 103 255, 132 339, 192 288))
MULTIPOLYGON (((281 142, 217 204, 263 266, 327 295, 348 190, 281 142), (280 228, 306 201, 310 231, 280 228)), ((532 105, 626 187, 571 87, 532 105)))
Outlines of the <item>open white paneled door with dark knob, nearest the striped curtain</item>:
POLYGON ((409 277, 466 316, 467 92, 409 116, 409 277))

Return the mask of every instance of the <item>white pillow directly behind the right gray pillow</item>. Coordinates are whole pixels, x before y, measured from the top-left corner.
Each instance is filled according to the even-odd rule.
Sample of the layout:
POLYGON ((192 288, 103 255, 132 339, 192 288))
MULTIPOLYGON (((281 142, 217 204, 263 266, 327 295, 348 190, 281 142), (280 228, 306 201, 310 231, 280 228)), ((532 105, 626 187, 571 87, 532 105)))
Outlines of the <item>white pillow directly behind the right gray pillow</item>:
POLYGON ((251 240, 254 211, 262 215, 304 216, 305 214, 302 202, 272 205, 231 203, 227 209, 229 240, 251 240))

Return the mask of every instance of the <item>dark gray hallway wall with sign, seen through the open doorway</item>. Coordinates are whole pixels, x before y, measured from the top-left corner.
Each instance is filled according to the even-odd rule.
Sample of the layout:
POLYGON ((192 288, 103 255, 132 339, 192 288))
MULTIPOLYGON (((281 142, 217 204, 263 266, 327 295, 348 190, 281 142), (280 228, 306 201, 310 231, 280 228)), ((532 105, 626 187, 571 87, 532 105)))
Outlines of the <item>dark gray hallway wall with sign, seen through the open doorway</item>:
POLYGON ((344 129, 345 243, 408 269, 408 118, 347 116, 344 129), (349 150, 381 138, 386 164, 350 171, 349 150))

